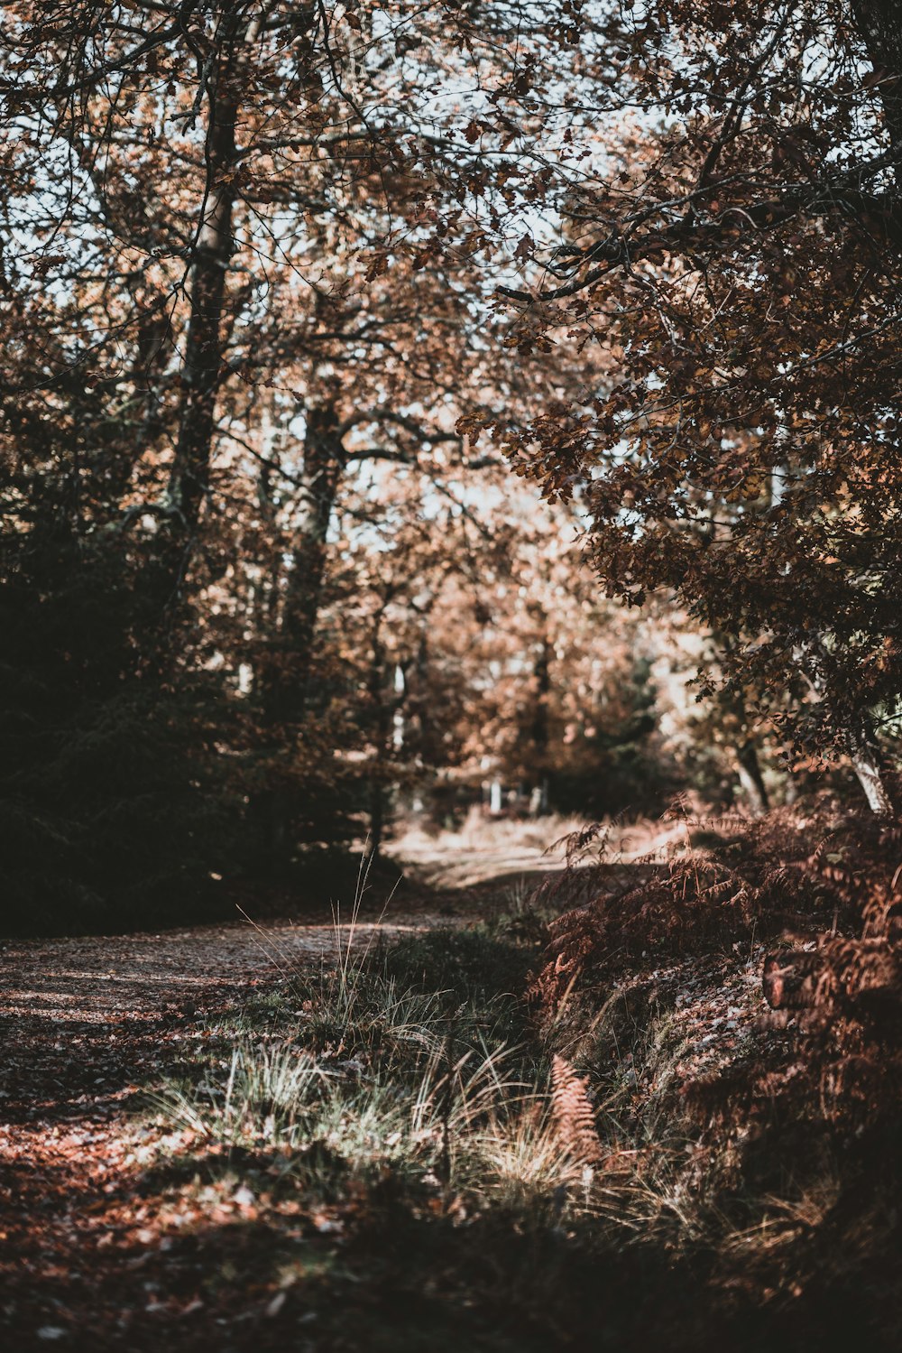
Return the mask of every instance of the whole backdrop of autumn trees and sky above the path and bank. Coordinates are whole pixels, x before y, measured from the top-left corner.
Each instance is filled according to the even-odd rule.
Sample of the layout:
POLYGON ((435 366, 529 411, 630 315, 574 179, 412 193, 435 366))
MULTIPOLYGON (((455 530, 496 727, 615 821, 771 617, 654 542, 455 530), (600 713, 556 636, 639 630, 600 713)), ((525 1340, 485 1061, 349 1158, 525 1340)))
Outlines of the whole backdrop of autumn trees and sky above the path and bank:
POLYGON ((4 925, 890 812, 901 70, 876 0, 7 5, 4 925))

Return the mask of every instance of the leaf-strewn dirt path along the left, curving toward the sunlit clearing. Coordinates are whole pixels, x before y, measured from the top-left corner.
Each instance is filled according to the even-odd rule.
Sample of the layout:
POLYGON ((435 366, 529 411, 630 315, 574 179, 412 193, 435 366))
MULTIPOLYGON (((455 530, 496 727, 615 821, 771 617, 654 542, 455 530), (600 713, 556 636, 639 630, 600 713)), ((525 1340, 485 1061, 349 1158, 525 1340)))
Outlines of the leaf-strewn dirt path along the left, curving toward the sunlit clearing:
MULTIPOLYGON (((229 1039, 247 1001, 287 971, 333 966, 349 943, 366 950, 476 921, 548 867, 530 844, 504 851, 503 867, 479 848, 467 858, 467 886, 406 886, 402 901, 365 905, 353 921, 321 905, 302 923, 0 940, 0 1330, 16 1349, 231 1346, 230 1326, 239 1337, 260 1285, 250 1281, 250 1311, 229 1310, 224 1291, 211 1303, 206 1288, 247 1280, 235 1264, 253 1249, 260 1208, 234 1180, 212 1216, 196 1191, 173 1196, 156 1166, 161 1154, 192 1158, 196 1134, 147 1123, 147 1093, 196 1073, 203 1050, 229 1039), (188 1234, 197 1258, 185 1265, 184 1245, 170 1252, 188 1234)), ((337 1227, 318 1226, 331 1252, 337 1227)), ((272 1293, 264 1308, 275 1314, 272 1293)), ((272 1331, 273 1348, 283 1335, 272 1331)))

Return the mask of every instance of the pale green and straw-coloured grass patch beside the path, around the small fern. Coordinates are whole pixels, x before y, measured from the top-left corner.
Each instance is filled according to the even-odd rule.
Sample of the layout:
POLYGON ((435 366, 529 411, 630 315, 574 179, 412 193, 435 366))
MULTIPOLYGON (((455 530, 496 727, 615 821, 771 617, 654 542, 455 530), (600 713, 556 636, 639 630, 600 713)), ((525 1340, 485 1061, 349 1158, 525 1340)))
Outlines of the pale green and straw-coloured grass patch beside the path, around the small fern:
POLYGON ((521 990, 526 980, 523 915, 384 955, 337 931, 333 963, 284 978, 249 1008, 227 1057, 154 1099, 158 1124, 216 1149, 276 1151, 280 1173, 315 1193, 337 1172, 394 1170, 442 1206, 454 1195, 529 1227, 603 1218, 648 1235, 668 1204, 617 1120, 629 1086, 595 1105, 508 989, 517 965, 521 990), (507 924, 513 938, 499 939, 507 924), (511 1042, 518 1030, 525 1040, 511 1042))

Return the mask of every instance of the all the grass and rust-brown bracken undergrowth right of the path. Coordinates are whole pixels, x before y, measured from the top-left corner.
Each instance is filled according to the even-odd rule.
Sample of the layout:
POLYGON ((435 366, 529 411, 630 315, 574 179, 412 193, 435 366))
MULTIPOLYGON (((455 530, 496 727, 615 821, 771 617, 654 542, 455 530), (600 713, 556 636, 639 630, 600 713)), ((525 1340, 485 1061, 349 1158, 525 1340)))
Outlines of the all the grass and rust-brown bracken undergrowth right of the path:
POLYGON ((349 1304, 318 1346, 897 1346, 897 1063, 874 1015, 895 838, 826 809, 705 831, 467 930, 361 950, 352 920, 156 1101, 207 1177, 341 1230, 349 1304), (761 1000, 775 944, 817 955, 805 1017, 761 1000), (705 1062, 721 988, 734 1031, 705 1062), (364 1289, 403 1318, 364 1330, 364 1289))

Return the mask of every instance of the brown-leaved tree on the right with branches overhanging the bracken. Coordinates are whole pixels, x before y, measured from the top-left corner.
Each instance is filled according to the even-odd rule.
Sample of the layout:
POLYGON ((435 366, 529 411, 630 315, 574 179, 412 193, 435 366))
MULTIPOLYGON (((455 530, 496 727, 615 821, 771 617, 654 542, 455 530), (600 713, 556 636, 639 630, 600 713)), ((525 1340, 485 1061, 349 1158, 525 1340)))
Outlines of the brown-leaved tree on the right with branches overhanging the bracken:
POLYGON ((845 755, 878 812, 902 694, 899 32, 897 5, 847 0, 594 11, 604 57, 545 198, 560 242, 502 290, 523 348, 600 345, 618 377, 498 425, 549 495, 583 492, 609 591, 671 589, 728 639, 748 714, 845 755))

